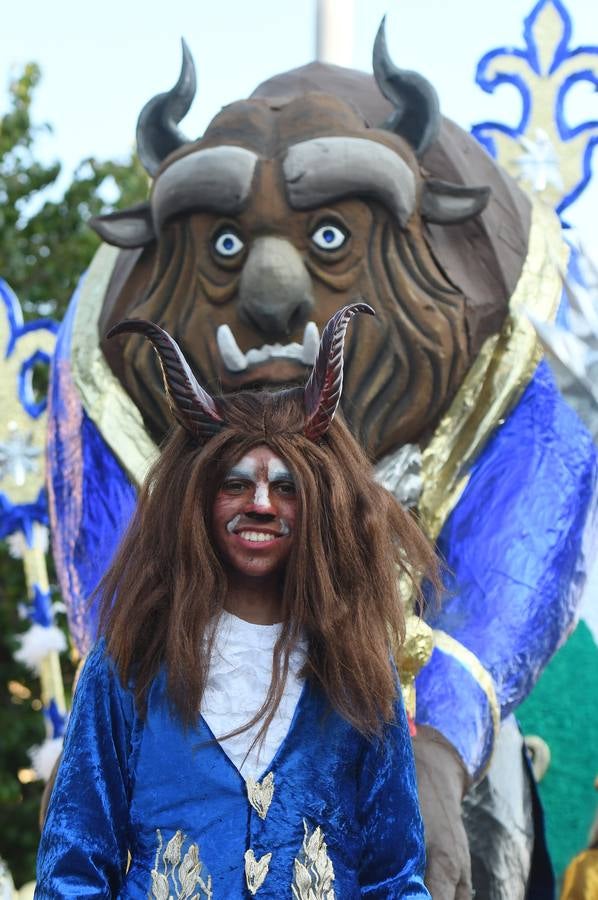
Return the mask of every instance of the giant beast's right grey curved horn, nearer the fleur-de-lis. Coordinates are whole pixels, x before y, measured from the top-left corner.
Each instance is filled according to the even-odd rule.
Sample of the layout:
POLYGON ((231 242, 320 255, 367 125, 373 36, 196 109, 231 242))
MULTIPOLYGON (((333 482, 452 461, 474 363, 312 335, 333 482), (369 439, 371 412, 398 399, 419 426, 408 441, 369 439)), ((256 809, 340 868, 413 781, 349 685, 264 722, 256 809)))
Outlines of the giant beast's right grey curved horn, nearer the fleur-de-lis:
POLYGON ((438 95, 423 75, 393 63, 386 45, 386 16, 376 35, 372 65, 378 87, 395 108, 381 127, 405 138, 421 156, 440 129, 438 95))

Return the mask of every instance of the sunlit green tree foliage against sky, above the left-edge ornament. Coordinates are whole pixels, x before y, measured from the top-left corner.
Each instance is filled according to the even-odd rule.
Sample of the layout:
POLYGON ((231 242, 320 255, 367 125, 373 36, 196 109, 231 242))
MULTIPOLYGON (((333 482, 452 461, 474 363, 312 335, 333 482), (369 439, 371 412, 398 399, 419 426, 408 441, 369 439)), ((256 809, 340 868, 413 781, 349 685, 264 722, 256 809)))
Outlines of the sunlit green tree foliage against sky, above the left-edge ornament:
POLYGON ((31 120, 39 79, 38 66, 27 65, 10 85, 11 106, 0 119, 0 275, 26 313, 35 316, 40 304, 42 310, 51 304, 61 318, 100 243, 87 220, 144 200, 148 180, 136 157, 124 163, 91 158, 80 163, 62 198, 43 199, 60 164, 36 159, 36 138, 48 128, 31 120))

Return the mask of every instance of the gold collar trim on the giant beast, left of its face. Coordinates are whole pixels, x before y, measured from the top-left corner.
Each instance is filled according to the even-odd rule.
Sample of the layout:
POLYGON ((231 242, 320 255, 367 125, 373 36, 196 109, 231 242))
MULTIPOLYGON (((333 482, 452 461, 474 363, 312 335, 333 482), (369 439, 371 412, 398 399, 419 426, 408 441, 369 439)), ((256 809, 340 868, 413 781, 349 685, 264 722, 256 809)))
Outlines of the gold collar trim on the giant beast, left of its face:
POLYGON ((98 340, 98 321, 120 251, 102 244, 81 286, 73 323, 71 366, 85 412, 136 484, 141 484, 158 448, 141 413, 110 369, 98 340))

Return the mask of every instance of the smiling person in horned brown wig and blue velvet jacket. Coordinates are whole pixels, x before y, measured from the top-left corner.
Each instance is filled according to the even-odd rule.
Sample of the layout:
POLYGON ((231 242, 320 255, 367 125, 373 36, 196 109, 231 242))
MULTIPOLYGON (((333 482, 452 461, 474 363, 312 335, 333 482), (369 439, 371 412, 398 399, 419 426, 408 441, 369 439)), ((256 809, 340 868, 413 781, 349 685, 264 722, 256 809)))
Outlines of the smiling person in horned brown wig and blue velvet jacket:
POLYGON ((435 557, 332 421, 358 311, 305 388, 217 399, 161 328, 113 329, 153 343, 181 427, 99 587, 40 900, 429 898, 389 636, 435 557))

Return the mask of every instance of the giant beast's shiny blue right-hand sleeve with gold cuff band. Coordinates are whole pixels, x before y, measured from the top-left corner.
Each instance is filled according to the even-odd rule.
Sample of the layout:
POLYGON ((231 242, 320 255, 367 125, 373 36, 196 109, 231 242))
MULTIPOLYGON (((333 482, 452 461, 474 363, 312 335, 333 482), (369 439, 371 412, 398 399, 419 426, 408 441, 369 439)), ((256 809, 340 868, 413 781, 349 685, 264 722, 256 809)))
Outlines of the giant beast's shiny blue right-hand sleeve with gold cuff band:
POLYGON ((596 450, 541 364, 474 465, 438 541, 446 599, 416 721, 477 778, 504 718, 575 625, 596 533, 596 450))

